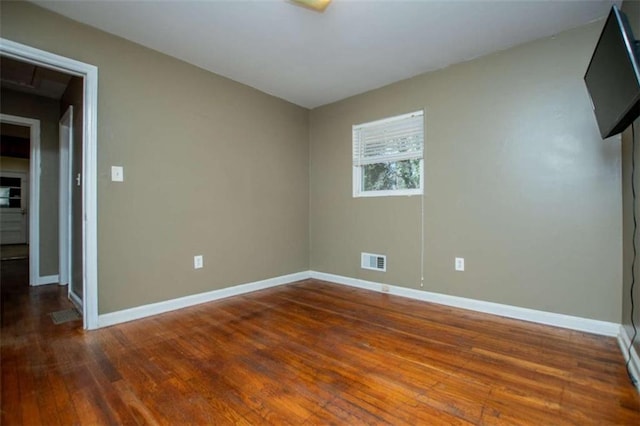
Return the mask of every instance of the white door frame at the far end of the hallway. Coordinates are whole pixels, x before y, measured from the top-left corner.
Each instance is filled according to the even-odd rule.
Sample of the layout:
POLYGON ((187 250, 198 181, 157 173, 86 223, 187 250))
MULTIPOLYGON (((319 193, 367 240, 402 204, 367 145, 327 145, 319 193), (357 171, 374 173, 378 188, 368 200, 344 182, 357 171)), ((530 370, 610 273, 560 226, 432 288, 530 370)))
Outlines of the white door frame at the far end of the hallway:
POLYGON ((29 285, 45 284, 40 282, 40 120, 0 114, 0 122, 29 128, 29 285))

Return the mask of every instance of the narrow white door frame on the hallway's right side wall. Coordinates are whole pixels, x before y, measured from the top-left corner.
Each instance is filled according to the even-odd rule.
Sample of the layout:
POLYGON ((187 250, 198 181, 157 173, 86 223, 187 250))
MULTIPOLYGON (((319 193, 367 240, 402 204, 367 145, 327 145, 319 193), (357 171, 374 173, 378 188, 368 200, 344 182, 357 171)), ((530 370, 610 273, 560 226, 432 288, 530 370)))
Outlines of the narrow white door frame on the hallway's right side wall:
MULTIPOLYGON (((71 147, 73 146, 73 105, 65 111, 59 122, 59 189, 58 189, 58 273, 60 285, 70 284, 71 270, 71 147)), ((69 286, 71 295, 71 286, 69 286)))

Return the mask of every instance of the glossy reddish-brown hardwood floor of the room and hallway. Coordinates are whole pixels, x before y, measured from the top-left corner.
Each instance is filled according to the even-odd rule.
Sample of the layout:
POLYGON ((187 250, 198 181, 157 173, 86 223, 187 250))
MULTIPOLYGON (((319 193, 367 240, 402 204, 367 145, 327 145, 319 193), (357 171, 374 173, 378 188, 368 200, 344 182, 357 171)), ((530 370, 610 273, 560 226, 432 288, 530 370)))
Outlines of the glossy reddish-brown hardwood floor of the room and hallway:
POLYGON ((613 338, 314 280, 84 332, 11 262, 3 425, 640 424, 613 338))

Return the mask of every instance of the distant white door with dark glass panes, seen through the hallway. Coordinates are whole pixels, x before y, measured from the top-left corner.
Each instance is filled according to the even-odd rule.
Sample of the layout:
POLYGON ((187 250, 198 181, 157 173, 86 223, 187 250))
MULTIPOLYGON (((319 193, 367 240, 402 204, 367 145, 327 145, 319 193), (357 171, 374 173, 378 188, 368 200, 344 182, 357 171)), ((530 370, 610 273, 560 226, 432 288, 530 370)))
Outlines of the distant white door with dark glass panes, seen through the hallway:
POLYGON ((0 172, 0 244, 26 244, 28 236, 27 173, 0 172))

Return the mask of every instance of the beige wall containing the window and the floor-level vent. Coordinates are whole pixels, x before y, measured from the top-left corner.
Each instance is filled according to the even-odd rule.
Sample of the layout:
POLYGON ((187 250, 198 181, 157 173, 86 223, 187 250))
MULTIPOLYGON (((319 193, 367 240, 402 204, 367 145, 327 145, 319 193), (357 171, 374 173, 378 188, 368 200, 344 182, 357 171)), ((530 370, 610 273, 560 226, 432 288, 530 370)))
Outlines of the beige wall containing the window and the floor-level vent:
POLYGON ((601 26, 313 110, 311 269, 420 288, 423 200, 352 198, 351 126, 423 108, 423 289, 619 322, 620 143, 582 80, 601 26), (387 272, 360 269, 363 251, 387 272))

